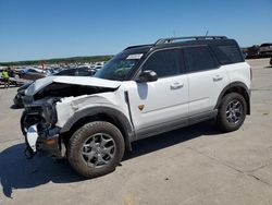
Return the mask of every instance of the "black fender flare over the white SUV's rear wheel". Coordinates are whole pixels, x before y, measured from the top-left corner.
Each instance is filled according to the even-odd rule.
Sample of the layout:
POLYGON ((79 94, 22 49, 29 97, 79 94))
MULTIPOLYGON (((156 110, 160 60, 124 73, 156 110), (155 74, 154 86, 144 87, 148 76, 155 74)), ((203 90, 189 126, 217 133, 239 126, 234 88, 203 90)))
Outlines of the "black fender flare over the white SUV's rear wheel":
POLYGON ((219 108, 223 96, 227 93, 227 91, 230 91, 232 88, 242 88, 243 91, 245 91, 244 95, 245 95, 246 102, 247 102, 247 114, 250 114, 250 96, 251 96, 251 92, 247 87, 247 85, 245 83, 242 83, 242 82, 233 82, 233 83, 226 85, 224 87, 224 89, 221 92, 221 94, 219 95, 219 98, 218 98, 218 101, 217 101, 217 105, 215 105, 214 109, 219 108))

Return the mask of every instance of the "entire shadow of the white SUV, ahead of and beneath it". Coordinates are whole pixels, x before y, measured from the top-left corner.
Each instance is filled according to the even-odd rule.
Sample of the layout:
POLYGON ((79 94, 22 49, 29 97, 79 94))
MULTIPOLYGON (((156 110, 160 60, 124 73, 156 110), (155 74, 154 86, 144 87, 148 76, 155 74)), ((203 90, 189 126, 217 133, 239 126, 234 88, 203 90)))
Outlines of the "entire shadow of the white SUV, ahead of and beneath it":
MULTIPOLYGON (((201 135, 219 134, 213 122, 203 122, 133 143, 133 152, 126 153, 123 161, 148 153, 170 147, 201 135)), ((72 170, 67 160, 52 160, 46 156, 35 156, 28 160, 24 156, 25 145, 17 144, 0 154, 0 182, 2 192, 12 197, 14 189, 30 189, 48 182, 72 183, 86 178, 72 170)))

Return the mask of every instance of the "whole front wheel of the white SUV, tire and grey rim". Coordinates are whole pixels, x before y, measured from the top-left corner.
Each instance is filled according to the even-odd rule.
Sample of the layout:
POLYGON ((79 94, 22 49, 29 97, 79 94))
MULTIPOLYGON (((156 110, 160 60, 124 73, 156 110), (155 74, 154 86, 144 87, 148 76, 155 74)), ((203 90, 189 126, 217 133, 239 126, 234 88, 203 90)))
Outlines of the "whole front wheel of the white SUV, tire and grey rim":
POLYGON ((115 125, 95 121, 79 128, 70 138, 67 158, 78 173, 95 178, 113 171, 124 149, 123 135, 115 125))

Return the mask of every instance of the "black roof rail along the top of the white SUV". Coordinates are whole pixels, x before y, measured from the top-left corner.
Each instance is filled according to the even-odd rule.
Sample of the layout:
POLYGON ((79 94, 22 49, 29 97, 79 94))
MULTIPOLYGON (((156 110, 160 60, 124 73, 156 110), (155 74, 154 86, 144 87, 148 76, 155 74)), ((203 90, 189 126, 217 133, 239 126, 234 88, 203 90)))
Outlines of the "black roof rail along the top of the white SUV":
POLYGON ((172 44, 177 40, 206 40, 206 39, 227 39, 225 36, 188 36, 188 37, 174 37, 174 38, 161 38, 154 43, 154 46, 161 44, 172 44))

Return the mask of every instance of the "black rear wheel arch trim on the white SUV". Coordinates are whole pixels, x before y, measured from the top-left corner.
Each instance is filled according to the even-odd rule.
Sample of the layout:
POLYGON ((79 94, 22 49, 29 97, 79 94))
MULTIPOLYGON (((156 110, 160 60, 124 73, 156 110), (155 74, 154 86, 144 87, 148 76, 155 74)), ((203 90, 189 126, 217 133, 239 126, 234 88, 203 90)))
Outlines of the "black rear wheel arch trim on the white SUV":
POLYGON ((224 89, 221 92, 218 98, 215 109, 219 108, 223 97, 226 94, 234 93, 234 92, 240 94, 245 98, 246 104, 247 104, 247 114, 250 114, 250 89, 246 86, 246 84, 242 82, 233 82, 224 87, 224 89))

